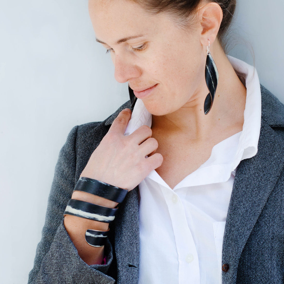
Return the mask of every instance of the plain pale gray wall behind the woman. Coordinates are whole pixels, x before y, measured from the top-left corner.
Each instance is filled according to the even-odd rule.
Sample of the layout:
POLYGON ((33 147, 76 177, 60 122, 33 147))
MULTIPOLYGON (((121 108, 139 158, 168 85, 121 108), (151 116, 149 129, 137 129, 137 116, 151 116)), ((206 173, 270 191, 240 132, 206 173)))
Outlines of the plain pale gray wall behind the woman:
MULTIPOLYGON (((251 44, 260 82, 282 102, 283 8, 282 0, 240 0, 238 44, 229 53, 253 64, 251 44)), ((128 99, 113 71, 95 43, 87 0, 1 0, 1 283, 27 282, 68 132, 105 119, 128 99)))

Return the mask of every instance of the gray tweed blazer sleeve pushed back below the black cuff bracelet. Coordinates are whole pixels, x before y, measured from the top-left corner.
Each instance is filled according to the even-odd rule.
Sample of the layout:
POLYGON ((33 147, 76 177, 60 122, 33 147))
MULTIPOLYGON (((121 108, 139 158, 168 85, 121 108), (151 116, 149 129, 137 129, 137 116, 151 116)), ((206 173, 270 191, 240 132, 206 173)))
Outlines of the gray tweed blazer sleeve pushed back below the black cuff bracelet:
POLYGON ((75 186, 76 137, 78 126, 69 133, 60 150, 55 175, 49 194, 42 238, 37 245, 34 268, 28 284, 112 284, 107 273, 113 260, 113 250, 107 239, 106 264, 88 265, 78 255, 63 224, 63 213, 75 186))

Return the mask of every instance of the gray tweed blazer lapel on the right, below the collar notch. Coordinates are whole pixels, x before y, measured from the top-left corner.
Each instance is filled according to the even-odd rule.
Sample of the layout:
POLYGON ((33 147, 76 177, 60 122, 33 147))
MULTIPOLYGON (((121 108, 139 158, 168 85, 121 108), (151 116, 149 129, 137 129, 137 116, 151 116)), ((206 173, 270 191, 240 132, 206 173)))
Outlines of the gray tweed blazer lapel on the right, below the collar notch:
POLYGON ((262 120, 257 154, 237 167, 222 251, 224 283, 235 283, 241 252, 284 166, 283 139, 262 120))

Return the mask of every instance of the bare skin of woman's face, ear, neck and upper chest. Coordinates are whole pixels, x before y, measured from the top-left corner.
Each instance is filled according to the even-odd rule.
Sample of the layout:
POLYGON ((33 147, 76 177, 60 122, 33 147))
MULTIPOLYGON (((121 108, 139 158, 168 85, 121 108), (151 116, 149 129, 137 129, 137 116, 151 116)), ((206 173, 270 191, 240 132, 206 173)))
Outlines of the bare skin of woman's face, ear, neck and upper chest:
POLYGON ((89 14, 97 39, 112 49, 116 81, 128 82, 135 91, 158 84, 142 100, 153 114, 156 153, 164 158, 156 171, 174 187, 209 158, 214 145, 242 129, 246 89, 216 40, 222 9, 202 3, 190 29, 129 0, 89 0, 89 14), (117 43, 136 35, 142 36, 117 43), (213 106, 204 115, 208 40, 219 82, 213 106))

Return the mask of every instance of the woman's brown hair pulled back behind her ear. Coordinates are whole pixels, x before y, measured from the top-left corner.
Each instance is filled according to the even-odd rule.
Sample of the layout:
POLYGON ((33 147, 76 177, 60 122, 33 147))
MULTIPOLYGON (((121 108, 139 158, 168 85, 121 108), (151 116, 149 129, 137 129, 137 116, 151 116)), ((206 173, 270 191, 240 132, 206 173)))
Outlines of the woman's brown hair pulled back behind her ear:
MULTIPOLYGON (((185 26, 185 19, 195 14, 199 5, 204 0, 132 0, 143 7, 146 11, 154 14, 166 12, 179 18, 178 23, 185 26)), ((223 19, 217 38, 225 51, 227 46, 227 33, 231 25, 233 14, 236 9, 237 0, 205 0, 207 2, 215 2, 220 5, 223 11, 223 19)))

